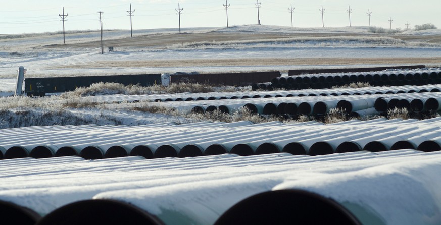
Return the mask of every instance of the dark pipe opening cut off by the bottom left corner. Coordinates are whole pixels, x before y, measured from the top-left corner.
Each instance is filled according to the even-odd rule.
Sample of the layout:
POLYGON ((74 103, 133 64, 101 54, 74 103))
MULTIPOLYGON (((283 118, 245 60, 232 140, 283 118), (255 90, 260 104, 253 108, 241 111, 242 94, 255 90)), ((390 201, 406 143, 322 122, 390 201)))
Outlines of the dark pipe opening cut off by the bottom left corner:
POLYGON ((41 219, 35 211, 6 201, 0 201, 0 215, 5 225, 34 225, 41 219))

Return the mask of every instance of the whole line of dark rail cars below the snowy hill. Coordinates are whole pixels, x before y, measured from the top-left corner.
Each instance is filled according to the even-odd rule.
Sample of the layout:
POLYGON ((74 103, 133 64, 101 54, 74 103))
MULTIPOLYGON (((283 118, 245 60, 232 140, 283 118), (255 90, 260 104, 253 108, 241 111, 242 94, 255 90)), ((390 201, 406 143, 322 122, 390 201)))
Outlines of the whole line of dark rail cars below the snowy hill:
MULTIPOLYGON (((424 68, 417 66, 398 67, 375 67, 375 68, 341 68, 341 69, 314 69, 314 70, 290 70, 289 76, 313 73, 342 73, 342 72, 363 72, 380 71, 398 68, 424 68)), ((215 86, 249 86, 253 84, 271 82, 280 79, 279 71, 250 72, 250 73, 218 73, 218 74, 172 74, 170 83, 203 83, 215 86)), ((78 87, 88 87, 93 83, 113 82, 124 85, 139 84, 141 86, 161 85, 161 74, 138 74, 138 75, 110 75, 110 76, 78 76, 78 77, 46 77, 26 78, 24 93, 27 96, 45 96, 46 93, 61 93, 73 91, 78 87)), ((19 82, 18 82, 19 83, 19 82)))

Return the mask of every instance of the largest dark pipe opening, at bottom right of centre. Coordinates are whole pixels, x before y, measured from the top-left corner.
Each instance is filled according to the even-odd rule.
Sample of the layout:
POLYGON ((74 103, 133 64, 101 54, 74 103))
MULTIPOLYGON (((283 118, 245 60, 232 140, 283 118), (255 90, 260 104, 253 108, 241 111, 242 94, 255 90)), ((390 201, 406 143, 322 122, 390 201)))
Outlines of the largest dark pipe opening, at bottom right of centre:
POLYGON ((303 190, 260 193, 240 201, 214 223, 223 224, 361 224, 330 198, 303 190))

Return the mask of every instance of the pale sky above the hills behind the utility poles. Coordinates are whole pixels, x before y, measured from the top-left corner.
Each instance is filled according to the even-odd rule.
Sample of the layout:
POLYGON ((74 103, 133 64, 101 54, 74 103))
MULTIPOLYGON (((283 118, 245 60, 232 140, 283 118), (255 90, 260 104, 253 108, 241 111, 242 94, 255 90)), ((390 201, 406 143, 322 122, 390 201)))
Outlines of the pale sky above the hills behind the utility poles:
MULTIPOLYGON (((178 28, 179 21, 175 9, 183 9, 181 27, 226 27, 225 0, 2 0, 0 5, 0 34, 40 33, 62 31, 63 23, 59 14, 65 8, 66 30, 97 30, 100 28, 99 14, 103 14, 104 29, 130 29, 127 10, 135 10, 132 17, 133 29, 178 28)), ((228 0, 228 24, 257 24, 257 0, 228 0)), ((415 25, 432 23, 441 28, 440 0, 370 0, 370 1, 329 1, 329 0, 260 0, 259 17, 263 25, 291 26, 288 8, 295 8, 295 27, 322 27, 323 5, 325 27, 349 26, 348 9, 351 11, 352 26, 371 25, 405 29, 415 25)))

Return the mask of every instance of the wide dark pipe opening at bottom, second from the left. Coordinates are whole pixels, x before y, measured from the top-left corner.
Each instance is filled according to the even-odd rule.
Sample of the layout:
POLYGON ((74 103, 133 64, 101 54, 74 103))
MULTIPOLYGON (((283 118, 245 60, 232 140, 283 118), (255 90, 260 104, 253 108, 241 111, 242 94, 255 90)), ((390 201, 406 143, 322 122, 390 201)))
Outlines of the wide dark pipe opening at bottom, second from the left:
POLYGON ((125 202, 115 200, 86 200, 54 210, 38 225, 74 224, 164 224, 156 216, 125 202))

